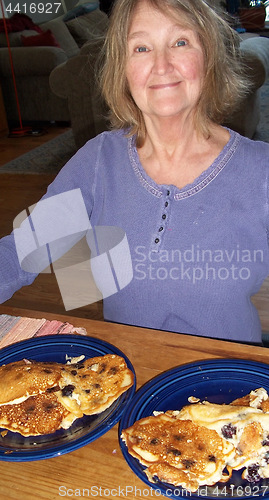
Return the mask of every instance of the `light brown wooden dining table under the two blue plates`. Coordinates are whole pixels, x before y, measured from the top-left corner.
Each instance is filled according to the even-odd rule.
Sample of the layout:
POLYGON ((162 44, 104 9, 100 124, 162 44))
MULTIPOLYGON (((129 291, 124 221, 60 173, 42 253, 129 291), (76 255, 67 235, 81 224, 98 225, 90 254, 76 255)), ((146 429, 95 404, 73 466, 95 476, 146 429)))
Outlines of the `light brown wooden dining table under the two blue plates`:
MULTIPOLYGON (((0 306, 0 314, 69 321, 87 335, 110 342, 131 361, 137 388, 161 372, 194 361, 240 358, 269 363, 269 349, 191 335, 126 326, 74 316, 0 306)), ((157 495, 158 493, 158 495, 157 495)), ((129 500, 158 498, 126 463, 118 425, 90 444, 61 456, 30 462, 0 461, 1 500, 59 498, 129 500)))

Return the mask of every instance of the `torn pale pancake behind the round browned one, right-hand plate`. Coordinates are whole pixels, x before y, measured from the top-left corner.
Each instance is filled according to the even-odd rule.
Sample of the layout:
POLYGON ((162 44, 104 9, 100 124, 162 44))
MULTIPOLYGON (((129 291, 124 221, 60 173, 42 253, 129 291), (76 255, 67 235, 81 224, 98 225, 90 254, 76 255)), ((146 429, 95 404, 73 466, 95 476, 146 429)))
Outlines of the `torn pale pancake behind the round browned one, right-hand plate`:
POLYGON ((228 405, 202 401, 168 413, 213 429, 231 443, 235 454, 228 465, 234 470, 244 468, 243 478, 254 482, 269 477, 268 395, 263 388, 228 405))

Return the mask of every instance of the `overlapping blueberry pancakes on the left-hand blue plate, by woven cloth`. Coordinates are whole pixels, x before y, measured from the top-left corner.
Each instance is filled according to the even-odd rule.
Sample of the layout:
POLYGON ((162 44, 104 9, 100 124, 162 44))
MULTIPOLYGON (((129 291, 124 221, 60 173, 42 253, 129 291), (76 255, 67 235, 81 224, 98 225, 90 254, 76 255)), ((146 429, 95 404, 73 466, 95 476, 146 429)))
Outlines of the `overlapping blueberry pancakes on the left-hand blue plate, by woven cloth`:
POLYGON ((77 418, 104 411, 133 383, 125 360, 114 354, 68 364, 24 359, 3 365, 0 427, 23 436, 68 429, 77 418))

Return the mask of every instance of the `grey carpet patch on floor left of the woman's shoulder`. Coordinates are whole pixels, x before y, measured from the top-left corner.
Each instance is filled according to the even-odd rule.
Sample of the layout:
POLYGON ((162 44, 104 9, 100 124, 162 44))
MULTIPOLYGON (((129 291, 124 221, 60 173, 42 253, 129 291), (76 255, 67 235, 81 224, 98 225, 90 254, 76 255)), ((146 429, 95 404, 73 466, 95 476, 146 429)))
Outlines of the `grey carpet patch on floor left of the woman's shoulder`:
MULTIPOLYGON (((16 139, 13 139, 16 141, 16 139)), ((0 174, 57 174, 75 154, 77 148, 72 130, 54 137, 50 141, 19 156, 2 167, 0 174)))

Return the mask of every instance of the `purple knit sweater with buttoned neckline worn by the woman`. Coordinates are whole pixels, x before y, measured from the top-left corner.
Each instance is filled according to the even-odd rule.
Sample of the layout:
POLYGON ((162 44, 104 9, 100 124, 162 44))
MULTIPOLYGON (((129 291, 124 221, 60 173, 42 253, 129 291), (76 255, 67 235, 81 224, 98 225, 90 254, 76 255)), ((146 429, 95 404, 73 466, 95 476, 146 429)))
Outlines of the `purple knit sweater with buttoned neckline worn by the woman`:
MULTIPOLYGON (((107 320, 260 342, 251 296, 269 273, 268 172, 269 144, 230 131, 221 154, 192 184, 182 189, 158 185, 140 164, 134 139, 123 132, 105 132, 67 163, 46 198, 79 188, 91 226, 114 226, 127 236, 133 274, 128 259, 117 263, 121 276, 116 273, 115 290, 104 299, 107 320), (120 286, 117 278, 124 282, 125 274, 120 286)), ((69 205, 63 198, 68 220, 69 205)), ((61 212, 61 199, 54 215, 48 211, 43 216, 44 227, 57 226, 56 212, 61 212)), ((26 228, 20 231, 22 246, 27 246, 29 233, 26 228)), ((115 238, 106 252, 110 264, 115 238)), ((3 238, 0 301, 35 276, 21 269, 14 236, 3 238)))

